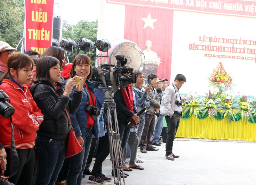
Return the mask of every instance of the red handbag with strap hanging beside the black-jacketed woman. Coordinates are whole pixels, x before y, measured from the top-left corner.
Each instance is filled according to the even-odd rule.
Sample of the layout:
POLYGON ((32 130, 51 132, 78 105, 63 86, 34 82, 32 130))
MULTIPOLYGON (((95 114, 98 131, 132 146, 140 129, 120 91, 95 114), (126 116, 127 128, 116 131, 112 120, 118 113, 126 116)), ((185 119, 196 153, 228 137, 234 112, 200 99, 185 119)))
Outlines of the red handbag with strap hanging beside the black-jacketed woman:
POLYGON ((69 122, 68 124, 70 127, 70 132, 68 135, 68 145, 67 145, 67 151, 66 151, 65 158, 69 158, 69 157, 74 156, 74 155, 78 154, 79 152, 81 152, 83 150, 83 147, 78 143, 78 141, 76 139, 76 135, 75 135, 75 132, 71 125, 71 120, 69 118, 67 109, 65 109, 65 112, 68 116, 68 122, 69 122))

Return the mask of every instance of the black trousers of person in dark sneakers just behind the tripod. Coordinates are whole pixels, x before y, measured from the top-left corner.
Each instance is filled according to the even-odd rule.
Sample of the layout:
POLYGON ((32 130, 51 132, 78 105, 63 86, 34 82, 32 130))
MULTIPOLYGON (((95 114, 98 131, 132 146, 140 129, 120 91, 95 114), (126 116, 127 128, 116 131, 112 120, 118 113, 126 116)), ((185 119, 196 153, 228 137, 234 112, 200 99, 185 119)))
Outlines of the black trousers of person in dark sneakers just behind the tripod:
MULTIPOLYGON (((107 124, 106 124, 107 125, 107 124)), ((108 129, 107 129, 108 130, 108 129)), ((96 153, 95 163, 92 168, 92 175, 98 176, 102 173, 102 163, 108 157, 109 150, 109 136, 105 133, 105 136, 99 138, 98 149, 96 153)))

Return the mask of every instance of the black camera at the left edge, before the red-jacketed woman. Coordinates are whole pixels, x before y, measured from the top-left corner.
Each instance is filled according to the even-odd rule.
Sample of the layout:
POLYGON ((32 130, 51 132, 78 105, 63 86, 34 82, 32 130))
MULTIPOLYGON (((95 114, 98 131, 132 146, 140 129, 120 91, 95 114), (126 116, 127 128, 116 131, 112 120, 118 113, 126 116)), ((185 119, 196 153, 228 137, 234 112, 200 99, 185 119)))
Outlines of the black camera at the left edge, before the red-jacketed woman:
POLYGON ((9 104, 9 96, 3 91, 0 90, 0 114, 5 118, 9 118, 14 113, 14 108, 9 104))

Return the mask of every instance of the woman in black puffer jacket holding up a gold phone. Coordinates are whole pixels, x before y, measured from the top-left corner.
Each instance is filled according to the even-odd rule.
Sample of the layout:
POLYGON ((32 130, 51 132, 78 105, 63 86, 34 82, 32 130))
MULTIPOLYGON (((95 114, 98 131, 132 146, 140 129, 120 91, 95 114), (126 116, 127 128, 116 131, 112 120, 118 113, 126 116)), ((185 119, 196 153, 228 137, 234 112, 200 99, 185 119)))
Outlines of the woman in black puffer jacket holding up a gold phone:
POLYGON ((44 114, 44 121, 36 137, 36 185, 54 185, 66 155, 69 133, 67 114, 76 113, 83 97, 83 83, 76 86, 70 99, 69 94, 75 86, 75 79, 71 78, 64 89, 60 76, 60 61, 57 58, 44 56, 37 60, 36 79, 30 91, 44 114))

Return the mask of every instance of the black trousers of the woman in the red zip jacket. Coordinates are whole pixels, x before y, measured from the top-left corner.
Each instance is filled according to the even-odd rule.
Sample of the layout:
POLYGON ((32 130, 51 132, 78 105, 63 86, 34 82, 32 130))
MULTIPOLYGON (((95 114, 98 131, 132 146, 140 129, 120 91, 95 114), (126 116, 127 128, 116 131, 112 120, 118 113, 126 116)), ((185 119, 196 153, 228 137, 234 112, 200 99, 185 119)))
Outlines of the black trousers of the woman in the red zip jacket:
MULTIPOLYGON (((6 172, 10 171, 10 164, 11 164, 11 154, 10 149, 5 149, 7 154, 7 166, 6 166, 6 172)), ((18 172, 9 178, 9 182, 12 182, 13 184, 17 185, 33 185, 33 174, 35 170, 35 149, 17 149, 17 153, 19 156, 19 164, 17 164, 17 167, 19 165, 18 172)), ((7 176, 8 174, 5 174, 7 176)))

